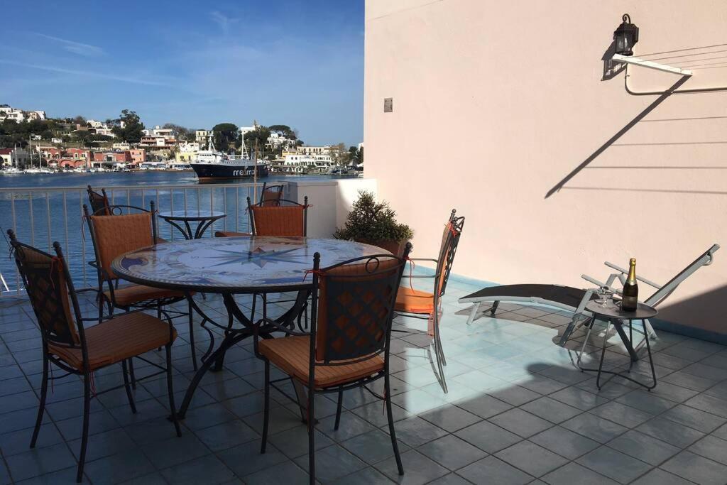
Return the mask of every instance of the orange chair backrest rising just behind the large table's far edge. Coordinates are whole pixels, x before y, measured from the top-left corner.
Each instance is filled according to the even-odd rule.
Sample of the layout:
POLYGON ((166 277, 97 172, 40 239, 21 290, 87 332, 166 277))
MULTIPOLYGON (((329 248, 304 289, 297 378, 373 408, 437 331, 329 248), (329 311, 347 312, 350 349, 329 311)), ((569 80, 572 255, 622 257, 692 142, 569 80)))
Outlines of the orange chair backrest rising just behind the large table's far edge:
POLYGON ((308 233, 308 196, 303 204, 278 199, 275 206, 253 205, 248 197, 247 210, 254 236, 306 236, 308 233))

